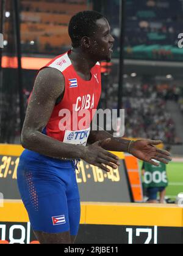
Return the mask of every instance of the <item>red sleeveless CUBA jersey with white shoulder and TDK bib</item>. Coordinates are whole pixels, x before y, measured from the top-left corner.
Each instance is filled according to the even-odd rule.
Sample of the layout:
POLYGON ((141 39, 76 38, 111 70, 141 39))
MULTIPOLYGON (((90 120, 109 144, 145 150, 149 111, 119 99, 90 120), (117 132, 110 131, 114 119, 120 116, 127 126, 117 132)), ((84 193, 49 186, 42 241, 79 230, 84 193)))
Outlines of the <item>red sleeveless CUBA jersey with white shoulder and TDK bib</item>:
POLYGON ((43 133, 65 143, 85 146, 101 96, 101 67, 97 62, 91 69, 91 79, 83 80, 74 70, 69 53, 57 56, 45 66, 62 72, 65 91, 63 99, 54 107, 43 133))

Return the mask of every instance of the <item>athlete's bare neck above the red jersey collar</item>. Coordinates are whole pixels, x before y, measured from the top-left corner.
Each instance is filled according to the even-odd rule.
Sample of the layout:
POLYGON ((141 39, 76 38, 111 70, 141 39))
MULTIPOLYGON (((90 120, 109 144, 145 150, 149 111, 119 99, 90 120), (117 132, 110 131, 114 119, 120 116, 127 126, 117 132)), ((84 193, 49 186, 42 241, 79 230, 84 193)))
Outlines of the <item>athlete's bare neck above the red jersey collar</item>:
POLYGON ((90 70, 95 66, 97 61, 91 59, 87 53, 84 53, 80 48, 71 48, 71 53, 69 55, 71 63, 78 72, 87 75, 90 70))

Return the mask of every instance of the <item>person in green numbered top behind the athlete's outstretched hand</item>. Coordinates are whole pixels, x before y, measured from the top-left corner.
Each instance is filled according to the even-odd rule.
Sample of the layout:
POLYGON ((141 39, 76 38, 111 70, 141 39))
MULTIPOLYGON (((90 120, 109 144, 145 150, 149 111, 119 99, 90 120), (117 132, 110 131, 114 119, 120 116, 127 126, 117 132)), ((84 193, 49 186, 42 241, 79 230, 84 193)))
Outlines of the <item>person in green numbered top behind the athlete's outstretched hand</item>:
MULTIPOLYGON (((166 150, 170 152, 170 146, 166 150)), ((148 203, 158 203, 157 193, 159 192, 159 203, 165 203, 166 187, 168 186, 166 165, 159 162, 159 166, 153 166, 143 162, 143 190, 148 197, 148 203)))

